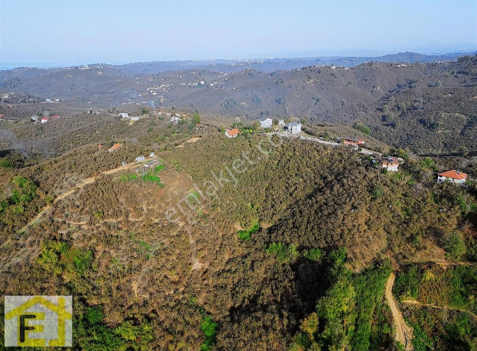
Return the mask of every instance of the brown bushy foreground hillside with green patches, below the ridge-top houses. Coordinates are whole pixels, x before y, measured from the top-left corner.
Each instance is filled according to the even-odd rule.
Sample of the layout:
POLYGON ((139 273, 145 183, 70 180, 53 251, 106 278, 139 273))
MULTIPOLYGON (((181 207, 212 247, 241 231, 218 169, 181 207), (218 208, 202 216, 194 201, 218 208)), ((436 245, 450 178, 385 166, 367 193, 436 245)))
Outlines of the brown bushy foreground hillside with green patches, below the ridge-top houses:
MULTIPOLYGON (((120 122, 97 137, 126 133, 120 122)), ((51 144, 69 150, 62 156, 0 170, 0 290, 72 294, 75 350, 398 350, 384 296, 390 272, 477 261, 475 197, 434 184, 429 160, 388 174, 343 147, 218 132, 167 147, 194 135, 187 123, 129 127, 144 138, 117 153, 83 135, 77 147, 51 144), (152 169, 119 166, 152 150, 152 169)), ((406 282, 415 289, 409 272, 397 297, 406 282)), ((455 306, 474 311, 471 295, 455 306)), ((432 336, 430 347, 451 342, 405 316, 432 336)), ((469 318, 452 341, 463 350, 475 343, 469 318)))

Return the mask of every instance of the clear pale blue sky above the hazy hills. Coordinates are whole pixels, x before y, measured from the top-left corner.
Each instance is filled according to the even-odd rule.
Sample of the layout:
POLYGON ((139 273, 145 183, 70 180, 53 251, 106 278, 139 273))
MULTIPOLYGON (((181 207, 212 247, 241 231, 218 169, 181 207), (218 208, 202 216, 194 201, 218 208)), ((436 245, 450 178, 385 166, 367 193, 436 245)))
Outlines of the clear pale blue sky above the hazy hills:
POLYGON ((476 47, 476 0, 0 0, 4 67, 476 47))

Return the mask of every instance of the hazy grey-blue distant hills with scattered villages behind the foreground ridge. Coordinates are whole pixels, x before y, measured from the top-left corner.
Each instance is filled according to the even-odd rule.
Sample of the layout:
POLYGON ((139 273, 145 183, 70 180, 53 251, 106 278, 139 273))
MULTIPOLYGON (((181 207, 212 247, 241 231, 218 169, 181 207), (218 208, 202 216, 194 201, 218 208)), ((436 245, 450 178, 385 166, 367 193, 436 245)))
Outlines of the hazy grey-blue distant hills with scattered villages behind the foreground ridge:
POLYGON ((2 71, 2 103, 175 107, 255 120, 363 123, 418 153, 474 149, 477 56, 404 52, 379 58, 201 60, 2 71), (379 63, 377 62, 379 61, 379 63), (417 63, 419 62, 419 63, 417 63), (349 67, 353 66, 353 67, 349 67))

